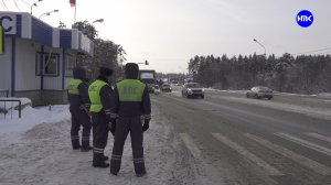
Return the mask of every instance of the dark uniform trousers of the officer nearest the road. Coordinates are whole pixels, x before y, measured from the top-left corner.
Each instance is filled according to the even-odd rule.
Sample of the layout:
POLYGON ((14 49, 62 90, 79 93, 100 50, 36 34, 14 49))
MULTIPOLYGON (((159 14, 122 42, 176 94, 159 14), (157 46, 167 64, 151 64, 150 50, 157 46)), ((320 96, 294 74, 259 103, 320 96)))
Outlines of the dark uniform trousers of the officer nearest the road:
POLYGON ((136 174, 146 173, 143 161, 143 135, 141 119, 140 117, 119 117, 116 124, 114 148, 110 160, 110 172, 114 174, 117 174, 119 172, 124 144, 129 132, 131 137, 135 172, 136 174))

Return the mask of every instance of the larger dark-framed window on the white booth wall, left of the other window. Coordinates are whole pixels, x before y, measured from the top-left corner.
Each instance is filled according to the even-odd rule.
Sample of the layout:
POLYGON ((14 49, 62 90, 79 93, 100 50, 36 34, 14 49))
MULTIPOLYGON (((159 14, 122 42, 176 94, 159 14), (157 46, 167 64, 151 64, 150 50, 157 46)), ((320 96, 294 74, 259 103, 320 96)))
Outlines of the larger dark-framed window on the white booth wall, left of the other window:
POLYGON ((58 54, 43 54, 41 57, 41 53, 36 53, 36 75, 40 76, 42 70, 44 76, 58 76, 58 54), (41 64, 43 65, 43 68, 41 68, 41 64))

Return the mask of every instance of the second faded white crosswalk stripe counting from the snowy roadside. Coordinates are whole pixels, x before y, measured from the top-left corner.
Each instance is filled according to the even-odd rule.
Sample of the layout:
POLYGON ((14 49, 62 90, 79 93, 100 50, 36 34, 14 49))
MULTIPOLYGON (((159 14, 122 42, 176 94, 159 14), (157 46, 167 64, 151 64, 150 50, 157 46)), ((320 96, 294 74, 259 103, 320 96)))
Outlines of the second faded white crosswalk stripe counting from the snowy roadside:
POLYGON ((223 137, 221 133, 212 133, 212 135, 214 138, 216 138, 218 141, 221 141, 222 143, 226 144, 231 149, 238 152, 241 155, 243 155, 248 161, 250 161, 250 162, 255 163, 256 165, 258 165, 259 167, 261 167, 266 172, 267 175, 271 175, 271 176, 284 175, 277 168, 270 166, 267 162, 265 162, 264 160, 257 157, 256 155, 254 155, 253 153, 250 153, 248 150, 244 149, 239 144, 228 140, 225 137, 223 137))

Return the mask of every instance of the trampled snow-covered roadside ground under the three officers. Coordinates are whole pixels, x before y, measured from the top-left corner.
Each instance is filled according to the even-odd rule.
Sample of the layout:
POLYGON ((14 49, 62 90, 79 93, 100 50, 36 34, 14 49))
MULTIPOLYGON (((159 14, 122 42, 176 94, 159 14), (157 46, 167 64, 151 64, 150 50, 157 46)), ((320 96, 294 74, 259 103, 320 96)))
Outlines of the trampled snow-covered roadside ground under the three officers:
MULTIPOLYGON (((25 107, 22 119, 0 119, 1 185, 160 185, 195 184, 195 168, 183 143, 174 134, 167 118, 157 108, 150 130, 145 133, 147 176, 135 176, 130 137, 121 171, 92 167, 92 152, 71 149, 68 106, 25 107)), ((109 134, 106 155, 110 155, 109 134)))

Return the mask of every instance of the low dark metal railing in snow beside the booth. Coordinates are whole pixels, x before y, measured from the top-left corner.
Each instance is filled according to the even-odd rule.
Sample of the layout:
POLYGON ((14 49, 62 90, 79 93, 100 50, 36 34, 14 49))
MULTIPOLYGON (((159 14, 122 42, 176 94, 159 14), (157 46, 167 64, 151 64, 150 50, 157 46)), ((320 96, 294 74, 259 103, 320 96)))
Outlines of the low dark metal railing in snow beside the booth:
POLYGON ((10 113, 10 119, 12 119, 14 110, 19 111, 19 118, 21 118, 22 102, 20 99, 0 98, 0 118, 3 115, 3 118, 6 119, 7 115, 10 113), (19 105, 14 102, 18 102, 19 105))

